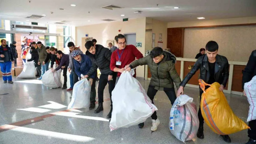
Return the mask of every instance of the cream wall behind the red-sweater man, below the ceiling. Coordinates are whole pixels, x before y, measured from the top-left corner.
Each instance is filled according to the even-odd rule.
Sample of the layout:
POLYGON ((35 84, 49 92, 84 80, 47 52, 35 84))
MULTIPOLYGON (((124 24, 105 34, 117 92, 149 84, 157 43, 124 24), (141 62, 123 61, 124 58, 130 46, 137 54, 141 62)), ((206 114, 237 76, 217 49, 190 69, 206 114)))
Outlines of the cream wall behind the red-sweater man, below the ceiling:
MULTIPOLYGON (((97 40, 97 44, 107 46, 107 40, 114 40, 118 34, 136 33, 136 42, 142 42, 138 50, 145 54, 146 18, 129 19, 129 21, 109 22, 97 25, 76 27, 76 45, 82 45, 85 34, 97 40), (121 30, 120 32, 118 30, 121 30)), ((82 49, 85 52, 85 49, 82 49)), ((144 77, 144 66, 137 67, 137 77, 144 77)))

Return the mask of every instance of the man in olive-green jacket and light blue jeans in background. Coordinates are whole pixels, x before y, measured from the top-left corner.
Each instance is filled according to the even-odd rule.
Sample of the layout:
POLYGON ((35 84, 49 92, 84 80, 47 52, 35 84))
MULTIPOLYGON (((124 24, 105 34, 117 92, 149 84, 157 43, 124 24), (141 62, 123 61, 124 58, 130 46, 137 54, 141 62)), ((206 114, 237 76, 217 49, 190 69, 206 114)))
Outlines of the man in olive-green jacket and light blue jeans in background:
MULTIPOLYGON (((46 60, 46 56, 47 56, 47 52, 46 52, 46 47, 42 44, 42 42, 37 42, 37 51, 39 54, 39 61, 38 61, 38 65, 43 64, 43 62, 46 60)), ((44 65, 41 65, 42 67, 42 74, 40 76, 40 78, 38 78, 38 80, 41 80, 43 77, 43 74, 49 69, 49 63, 50 60, 48 60, 47 62, 44 63, 44 65)))

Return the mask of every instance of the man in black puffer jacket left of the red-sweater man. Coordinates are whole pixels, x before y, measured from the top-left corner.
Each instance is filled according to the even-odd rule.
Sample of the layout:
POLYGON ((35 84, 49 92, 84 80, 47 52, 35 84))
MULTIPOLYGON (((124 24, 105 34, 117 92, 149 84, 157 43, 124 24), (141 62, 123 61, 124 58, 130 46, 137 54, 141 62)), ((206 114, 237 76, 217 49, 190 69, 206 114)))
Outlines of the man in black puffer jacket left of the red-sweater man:
POLYGON ((110 101, 111 101, 111 109, 107 115, 107 118, 111 118, 112 113, 112 100, 111 100, 111 93, 115 88, 116 82, 116 73, 110 70, 110 58, 111 58, 111 51, 108 48, 104 48, 102 45, 96 44, 94 45, 92 41, 88 41, 85 43, 85 48, 88 50, 86 51, 86 55, 88 55, 91 59, 93 65, 91 69, 88 71, 85 77, 90 77, 91 74, 94 74, 99 67, 101 71, 101 76, 99 77, 99 86, 98 86, 98 99, 99 99, 99 106, 94 111, 94 113, 99 113, 103 110, 103 92, 108 83, 108 91, 110 94, 110 101))

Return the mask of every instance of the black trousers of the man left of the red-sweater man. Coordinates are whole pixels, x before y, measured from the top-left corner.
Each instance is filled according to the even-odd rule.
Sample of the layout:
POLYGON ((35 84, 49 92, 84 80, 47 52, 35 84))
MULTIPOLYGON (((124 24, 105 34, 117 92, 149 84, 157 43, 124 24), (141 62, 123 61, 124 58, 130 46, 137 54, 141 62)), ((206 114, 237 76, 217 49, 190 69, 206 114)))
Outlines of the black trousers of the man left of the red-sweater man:
POLYGON ((112 77, 113 80, 108 81, 108 75, 104 75, 101 74, 101 76, 99 77, 99 86, 98 86, 98 99, 99 99, 99 103, 104 102, 103 100, 103 93, 104 93, 104 89, 106 87, 106 85, 108 84, 108 92, 110 95, 110 101, 111 101, 111 106, 112 106, 112 91, 115 88, 115 83, 116 83, 116 74, 113 74, 112 77))

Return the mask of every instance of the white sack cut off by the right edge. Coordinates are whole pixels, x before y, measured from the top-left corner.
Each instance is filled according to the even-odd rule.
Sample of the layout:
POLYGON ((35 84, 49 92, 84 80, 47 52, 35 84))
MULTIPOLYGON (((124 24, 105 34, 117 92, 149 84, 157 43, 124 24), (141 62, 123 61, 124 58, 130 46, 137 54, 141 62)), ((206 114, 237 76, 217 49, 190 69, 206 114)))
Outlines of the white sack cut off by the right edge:
POLYGON ((247 100, 250 104, 247 118, 247 122, 249 122, 256 119, 256 76, 244 84, 244 92, 246 92, 247 100))

